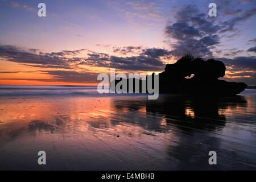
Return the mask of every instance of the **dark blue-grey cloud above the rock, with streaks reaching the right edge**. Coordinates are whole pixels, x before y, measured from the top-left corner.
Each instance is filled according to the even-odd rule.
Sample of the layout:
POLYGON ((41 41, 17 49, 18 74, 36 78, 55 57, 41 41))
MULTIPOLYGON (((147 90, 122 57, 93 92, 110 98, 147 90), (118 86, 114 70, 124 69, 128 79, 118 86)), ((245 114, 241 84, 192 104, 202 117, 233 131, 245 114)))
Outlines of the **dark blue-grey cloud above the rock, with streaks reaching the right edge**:
MULTIPOLYGON (((256 15, 255 5, 249 10, 242 10, 232 6, 230 1, 218 1, 217 4, 221 16, 230 15, 225 16, 228 17, 225 21, 220 18, 209 18, 207 13, 201 13, 195 5, 186 5, 175 11, 175 21, 165 28, 165 34, 172 47, 172 55, 212 57, 220 38, 228 37, 225 36, 225 32, 233 32, 233 36, 237 36, 239 31, 236 25, 256 15)), ((233 53, 233 56, 236 53, 233 53)))

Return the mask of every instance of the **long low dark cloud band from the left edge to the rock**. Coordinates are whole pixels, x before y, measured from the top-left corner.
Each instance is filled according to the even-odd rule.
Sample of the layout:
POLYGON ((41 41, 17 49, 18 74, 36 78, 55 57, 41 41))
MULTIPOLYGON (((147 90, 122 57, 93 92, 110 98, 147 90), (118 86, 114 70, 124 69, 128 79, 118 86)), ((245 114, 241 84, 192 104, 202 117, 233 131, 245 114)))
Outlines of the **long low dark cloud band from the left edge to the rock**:
POLYGON ((126 52, 134 51, 135 49, 141 51, 138 56, 117 57, 86 49, 44 53, 37 49, 26 50, 15 46, 0 46, 0 57, 8 61, 37 68, 74 69, 75 67, 71 64, 75 63, 77 65, 85 64, 134 71, 159 71, 164 68, 164 64, 159 59, 159 56, 170 53, 166 49, 160 48, 142 49, 142 47, 125 47, 126 52), (86 57, 72 57, 79 55, 79 53, 85 50, 89 52, 86 57))

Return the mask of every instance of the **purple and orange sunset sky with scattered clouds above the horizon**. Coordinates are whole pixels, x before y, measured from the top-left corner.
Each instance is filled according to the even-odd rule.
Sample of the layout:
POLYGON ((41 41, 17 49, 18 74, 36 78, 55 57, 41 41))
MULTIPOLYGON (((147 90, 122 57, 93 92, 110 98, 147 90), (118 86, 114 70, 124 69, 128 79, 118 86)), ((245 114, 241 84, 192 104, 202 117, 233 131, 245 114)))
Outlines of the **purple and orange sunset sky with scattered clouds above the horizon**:
POLYGON ((186 54, 256 85, 256 1, 0 0, 0 84, 93 85, 110 68, 159 73, 186 54), (46 4, 46 17, 38 4, 46 4), (208 15, 209 3, 217 16, 208 15))

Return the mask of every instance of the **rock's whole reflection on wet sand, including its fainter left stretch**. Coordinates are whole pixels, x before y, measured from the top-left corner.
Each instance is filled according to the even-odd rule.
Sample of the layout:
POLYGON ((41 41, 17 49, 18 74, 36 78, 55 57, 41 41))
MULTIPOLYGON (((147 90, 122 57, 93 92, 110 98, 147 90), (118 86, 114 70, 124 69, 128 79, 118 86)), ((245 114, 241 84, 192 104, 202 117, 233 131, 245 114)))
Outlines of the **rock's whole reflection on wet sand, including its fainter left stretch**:
MULTIPOLYGON (((207 97, 207 96, 161 96, 158 100, 115 100, 117 110, 127 108, 133 115, 125 122, 134 123, 148 131, 163 133, 171 125, 186 133, 197 130, 219 130, 226 125, 225 112, 236 107, 246 107, 247 101, 242 96, 207 97), (139 110, 145 108, 150 117, 139 117, 139 110), (223 111, 223 113, 220 112, 223 111), (138 111, 138 113, 136 112, 138 111), (166 128, 162 126, 162 117, 166 118, 166 128)), ((123 114, 125 115, 125 113, 123 114)))

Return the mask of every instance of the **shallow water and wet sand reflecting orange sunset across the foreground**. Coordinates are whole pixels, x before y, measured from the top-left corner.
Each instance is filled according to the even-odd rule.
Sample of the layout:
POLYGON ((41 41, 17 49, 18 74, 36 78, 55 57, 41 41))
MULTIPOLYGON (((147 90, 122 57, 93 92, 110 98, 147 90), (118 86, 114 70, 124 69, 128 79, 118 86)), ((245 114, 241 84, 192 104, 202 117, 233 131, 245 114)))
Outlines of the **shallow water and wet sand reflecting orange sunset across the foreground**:
POLYGON ((256 169, 255 90, 147 100, 93 88, 0 89, 0 169, 256 169), (47 165, 38 164, 41 150, 47 165), (217 165, 208 163, 212 150, 217 165))

